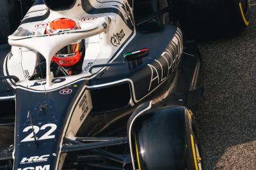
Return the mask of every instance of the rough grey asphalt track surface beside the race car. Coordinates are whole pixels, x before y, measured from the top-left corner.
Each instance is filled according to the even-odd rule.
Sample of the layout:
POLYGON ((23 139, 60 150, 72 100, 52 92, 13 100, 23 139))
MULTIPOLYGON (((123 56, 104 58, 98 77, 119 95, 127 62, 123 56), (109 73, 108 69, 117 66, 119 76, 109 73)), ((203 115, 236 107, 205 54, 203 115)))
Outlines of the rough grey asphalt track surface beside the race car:
MULTIPOLYGON (((256 0, 252 3, 256 3, 256 0)), ((256 169, 256 8, 236 38, 198 42, 204 97, 196 113, 205 169, 256 169)), ((13 128, 0 128, 0 146, 13 128)))

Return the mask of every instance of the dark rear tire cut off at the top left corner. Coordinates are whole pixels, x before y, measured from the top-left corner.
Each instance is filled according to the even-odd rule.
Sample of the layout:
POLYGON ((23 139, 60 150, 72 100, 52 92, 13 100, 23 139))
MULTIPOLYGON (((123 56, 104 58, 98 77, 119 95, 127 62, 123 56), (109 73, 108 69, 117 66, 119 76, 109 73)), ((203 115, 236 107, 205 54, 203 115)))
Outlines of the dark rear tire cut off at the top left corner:
POLYGON ((0 44, 7 43, 7 38, 19 26, 21 19, 20 2, 17 0, 0 1, 0 44))

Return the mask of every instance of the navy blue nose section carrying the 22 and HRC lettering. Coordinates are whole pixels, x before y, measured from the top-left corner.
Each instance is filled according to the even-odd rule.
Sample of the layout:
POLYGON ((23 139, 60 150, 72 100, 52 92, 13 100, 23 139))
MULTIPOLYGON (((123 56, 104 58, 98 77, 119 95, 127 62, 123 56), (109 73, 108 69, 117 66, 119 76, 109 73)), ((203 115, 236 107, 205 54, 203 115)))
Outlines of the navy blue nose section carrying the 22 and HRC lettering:
MULTIPOLYGON (((74 103, 77 93, 81 90, 81 82, 76 83, 76 87, 65 87, 72 89, 70 94, 60 94, 60 90, 47 93, 34 93, 26 90, 16 90, 16 118, 15 118, 15 161, 14 169, 28 167, 28 164, 20 164, 21 160, 26 157, 35 157, 50 155, 45 161, 45 165, 50 165, 51 169, 57 164, 57 155, 60 151, 60 142, 63 138, 63 128, 67 122, 70 106, 74 103), (33 130, 22 132, 26 127, 31 126, 31 120, 28 114, 31 114, 33 126, 42 127, 45 124, 56 124, 56 131, 52 132, 54 140, 33 140, 21 142, 33 130)), ((67 122, 68 123, 68 122, 67 122)), ((49 131, 47 127, 43 131, 36 133, 36 138, 49 131)), ((38 162, 42 166, 42 162, 38 162)), ((33 164, 33 166, 37 166, 33 164)))

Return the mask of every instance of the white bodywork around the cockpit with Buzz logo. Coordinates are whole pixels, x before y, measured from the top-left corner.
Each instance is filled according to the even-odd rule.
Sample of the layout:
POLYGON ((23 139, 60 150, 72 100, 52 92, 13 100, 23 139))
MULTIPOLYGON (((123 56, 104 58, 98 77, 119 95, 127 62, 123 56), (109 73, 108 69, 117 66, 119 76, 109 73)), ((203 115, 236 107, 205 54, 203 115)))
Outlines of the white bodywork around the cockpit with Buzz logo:
MULTIPOLYGON (((18 86, 13 87, 28 87, 28 89, 35 92, 58 89, 58 87, 67 85, 68 83, 76 81, 79 78, 86 78, 88 76, 91 76, 92 78, 92 74, 97 74, 100 70, 102 70, 102 68, 95 68, 93 69, 92 74, 89 73, 90 67, 94 64, 104 64, 113 61, 136 34, 135 29, 130 29, 127 25, 127 20, 130 20, 133 24, 133 16, 129 15, 129 13, 124 10, 124 8, 120 7, 121 4, 127 3, 127 1, 125 0, 118 0, 116 2, 109 3, 101 2, 104 1, 90 1, 94 8, 116 8, 120 11, 120 13, 122 13, 123 18, 125 19, 123 20, 123 18, 116 13, 99 13, 93 15, 88 14, 83 10, 81 0, 77 0, 74 7, 70 10, 50 11, 49 17, 47 17, 45 20, 42 20, 40 22, 28 22, 21 24, 19 27, 19 30, 21 31, 15 32, 12 36, 9 37, 9 43, 12 45, 12 57, 9 57, 10 59, 8 58, 6 60, 8 74, 17 76, 20 79, 20 81, 17 83, 18 86), (61 49, 61 45, 59 43, 59 46, 56 45, 54 50, 52 50, 51 52, 47 51, 50 47, 54 46, 54 38, 52 38, 53 40, 49 41, 36 41, 35 39, 38 36, 44 36, 45 28, 47 27, 47 25, 49 25, 52 20, 56 20, 58 18, 70 18, 72 20, 75 20, 77 23, 79 23, 81 30, 97 27, 97 25, 99 26, 100 24, 102 24, 102 22, 106 20, 108 20, 109 23, 108 29, 106 29, 106 31, 100 32, 99 34, 93 34, 93 36, 84 39, 85 55, 83 60, 83 72, 81 74, 65 77, 65 81, 54 84, 51 83, 51 73, 47 71, 48 80, 46 85, 44 85, 45 83, 42 83, 42 85, 40 86, 33 86, 36 81, 31 81, 29 80, 29 78, 35 73, 35 67, 38 64, 38 51, 41 51, 41 54, 48 59, 49 63, 51 62, 51 57, 53 57, 52 52, 56 53, 58 52, 58 50, 61 49), (120 33, 122 33, 124 37, 118 39, 116 35, 120 33), (29 36, 33 38, 28 38, 27 40, 22 39, 22 41, 17 40, 19 38, 29 36), (20 43, 18 43, 18 41, 20 41, 20 43)), ((44 4, 33 6, 24 17, 24 20, 37 16, 44 16, 46 15, 46 13, 49 13, 48 10, 49 9, 44 4)), ((130 8, 129 10, 132 11, 132 8, 130 8)), ((69 36, 70 38, 72 37, 68 34, 63 34, 60 35, 59 38, 56 38, 56 41, 61 41, 64 36, 69 36)), ((63 43, 63 41, 61 41, 61 43, 62 46, 68 45, 68 43, 63 43)), ((7 70, 4 69, 4 74, 7 74, 7 70)))

